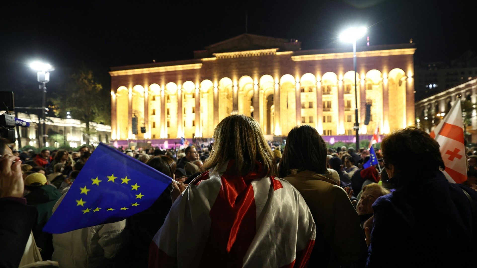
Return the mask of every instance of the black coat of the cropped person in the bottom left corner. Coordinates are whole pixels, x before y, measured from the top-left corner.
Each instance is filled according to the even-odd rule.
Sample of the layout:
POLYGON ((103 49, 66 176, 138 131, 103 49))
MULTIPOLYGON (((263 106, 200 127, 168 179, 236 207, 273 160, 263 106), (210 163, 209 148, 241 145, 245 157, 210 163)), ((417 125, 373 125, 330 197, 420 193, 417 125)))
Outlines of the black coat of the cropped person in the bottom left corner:
POLYGON ((36 209, 16 201, 21 199, 0 198, 0 267, 19 266, 35 224, 36 209))

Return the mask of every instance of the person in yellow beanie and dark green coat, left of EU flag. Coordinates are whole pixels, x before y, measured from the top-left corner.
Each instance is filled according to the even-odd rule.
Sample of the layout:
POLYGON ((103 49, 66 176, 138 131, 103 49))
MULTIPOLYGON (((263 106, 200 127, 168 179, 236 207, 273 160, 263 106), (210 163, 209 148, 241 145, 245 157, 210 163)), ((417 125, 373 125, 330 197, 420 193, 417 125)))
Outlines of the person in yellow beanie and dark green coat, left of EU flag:
POLYGON ((32 232, 35 242, 41 248, 41 258, 51 259, 53 253, 52 235, 43 233, 41 229, 52 216, 52 209, 61 193, 51 185, 48 185, 46 176, 35 172, 25 178, 25 188, 30 191, 25 196, 27 206, 33 206, 38 212, 36 224, 32 232))

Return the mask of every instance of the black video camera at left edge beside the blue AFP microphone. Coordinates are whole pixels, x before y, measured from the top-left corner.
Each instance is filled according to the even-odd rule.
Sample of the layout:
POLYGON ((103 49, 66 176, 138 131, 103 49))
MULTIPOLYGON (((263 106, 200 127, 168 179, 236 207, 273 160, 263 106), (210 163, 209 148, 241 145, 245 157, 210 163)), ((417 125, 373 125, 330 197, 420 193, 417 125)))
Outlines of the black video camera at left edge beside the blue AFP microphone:
POLYGON ((0 137, 15 142, 15 117, 10 115, 10 111, 15 110, 13 102, 13 92, 0 91, 0 111, 5 109, 5 113, 0 115, 0 137))

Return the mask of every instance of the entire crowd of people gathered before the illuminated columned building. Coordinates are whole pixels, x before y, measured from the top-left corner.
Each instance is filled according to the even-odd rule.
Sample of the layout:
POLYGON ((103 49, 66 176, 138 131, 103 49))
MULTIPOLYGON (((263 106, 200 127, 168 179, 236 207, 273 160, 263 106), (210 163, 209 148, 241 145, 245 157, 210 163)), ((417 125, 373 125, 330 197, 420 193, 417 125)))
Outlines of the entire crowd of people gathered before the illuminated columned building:
POLYGON ((0 140, 0 267, 475 267, 477 148, 451 184, 439 144, 415 127, 367 149, 327 147, 315 128, 266 141, 231 115, 214 143, 124 154, 176 180, 123 221, 41 231, 93 148, 19 152, 0 140), (376 150, 377 151, 377 150, 376 150))

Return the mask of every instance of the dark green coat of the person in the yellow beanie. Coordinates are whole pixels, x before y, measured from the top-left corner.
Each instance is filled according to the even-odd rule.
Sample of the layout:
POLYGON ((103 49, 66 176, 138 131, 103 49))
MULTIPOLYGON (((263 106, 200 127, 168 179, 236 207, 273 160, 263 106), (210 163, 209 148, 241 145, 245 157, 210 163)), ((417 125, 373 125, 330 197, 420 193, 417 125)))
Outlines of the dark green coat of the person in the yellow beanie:
POLYGON ((44 260, 52 259, 53 237, 51 234, 43 233, 41 229, 52 216, 53 206, 61 196, 60 191, 51 185, 39 186, 25 196, 27 205, 35 207, 38 212, 38 218, 32 231, 36 245, 41 248, 41 258, 44 260))

